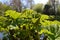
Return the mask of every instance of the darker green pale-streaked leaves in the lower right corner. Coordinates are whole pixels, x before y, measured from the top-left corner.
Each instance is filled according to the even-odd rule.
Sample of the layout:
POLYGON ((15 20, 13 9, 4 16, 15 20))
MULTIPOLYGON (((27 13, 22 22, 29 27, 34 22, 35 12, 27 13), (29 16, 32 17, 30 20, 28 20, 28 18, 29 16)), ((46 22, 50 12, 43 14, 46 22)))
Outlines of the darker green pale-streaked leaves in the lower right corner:
POLYGON ((50 32, 52 32, 54 35, 48 35, 49 39, 56 40, 58 37, 60 37, 60 27, 56 24, 51 25, 47 28, 50 32))

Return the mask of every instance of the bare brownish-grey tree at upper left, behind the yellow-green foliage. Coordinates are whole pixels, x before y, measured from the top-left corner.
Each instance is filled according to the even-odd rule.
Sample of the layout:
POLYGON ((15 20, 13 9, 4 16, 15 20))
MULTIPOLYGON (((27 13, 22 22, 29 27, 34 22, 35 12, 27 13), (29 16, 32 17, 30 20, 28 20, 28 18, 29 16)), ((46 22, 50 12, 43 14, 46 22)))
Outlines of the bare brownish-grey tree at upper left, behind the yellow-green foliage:
POLYGON ((21 0, 11 0, 10 5, 12 8, 18 12, 22 11, 22 5, 21 5, 21 0))

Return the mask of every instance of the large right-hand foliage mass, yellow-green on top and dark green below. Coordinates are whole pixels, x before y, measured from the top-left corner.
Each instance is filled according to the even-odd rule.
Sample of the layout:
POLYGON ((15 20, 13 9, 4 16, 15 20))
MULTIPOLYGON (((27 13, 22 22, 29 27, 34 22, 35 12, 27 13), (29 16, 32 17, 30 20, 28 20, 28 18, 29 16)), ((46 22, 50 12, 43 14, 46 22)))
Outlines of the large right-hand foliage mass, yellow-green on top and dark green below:
POLYGON ((60 22, 57 20, 50 21, 47 19, 49 19, 49 17, 47 18, 46 16, 45 20, 41 22, 42 30, 40 31, 40 34, 45 33, 48 35, 48 39, 56 40, 58 37, 60 37, 60 22))

